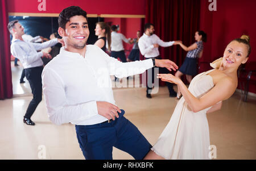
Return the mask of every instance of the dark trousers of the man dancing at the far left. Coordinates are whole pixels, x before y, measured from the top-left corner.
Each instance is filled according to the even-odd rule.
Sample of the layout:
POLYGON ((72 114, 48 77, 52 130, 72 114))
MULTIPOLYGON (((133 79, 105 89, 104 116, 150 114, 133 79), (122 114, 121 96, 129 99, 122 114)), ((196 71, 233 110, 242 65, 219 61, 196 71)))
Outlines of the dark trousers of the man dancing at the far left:
POLYGON ((36 107, 42 101, 42 71, 43 66, 25 69, 25 76, 28 82, 30 82, 33 99, 27 107, 27 112, 24 115, 24 118, 30 119, 36 110, 36 107))

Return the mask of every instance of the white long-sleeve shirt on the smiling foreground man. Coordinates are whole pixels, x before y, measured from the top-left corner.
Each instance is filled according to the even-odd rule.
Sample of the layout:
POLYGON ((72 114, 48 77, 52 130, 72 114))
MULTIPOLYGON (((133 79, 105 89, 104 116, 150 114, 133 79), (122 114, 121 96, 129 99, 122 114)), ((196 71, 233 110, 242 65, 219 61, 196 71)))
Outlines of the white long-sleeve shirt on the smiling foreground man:
POLYGON ((152 68, 152 60, 122 63, 96 45, 86 45, 85 57, 65 51, 43 69, 43 94, 47 113, 55 124, 91 125, 104 122, 97 101, 115 105, 110 75, 122 78, 152 68))

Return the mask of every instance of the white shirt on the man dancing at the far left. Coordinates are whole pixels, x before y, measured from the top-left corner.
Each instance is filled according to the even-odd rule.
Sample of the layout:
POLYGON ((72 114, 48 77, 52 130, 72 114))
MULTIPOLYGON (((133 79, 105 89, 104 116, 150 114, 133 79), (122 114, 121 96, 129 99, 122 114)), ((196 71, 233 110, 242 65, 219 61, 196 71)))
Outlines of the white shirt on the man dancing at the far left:
POLYGON ((43 52, 37 51, 57 44, 58 40, 56 38, 44 43, 31 43, 19 39, 13 39, 11 42, 11 54, 18 58, 20 62, 22 62, 24 69, 26 69, 43 66, 43 61, 41 59, 43 52))

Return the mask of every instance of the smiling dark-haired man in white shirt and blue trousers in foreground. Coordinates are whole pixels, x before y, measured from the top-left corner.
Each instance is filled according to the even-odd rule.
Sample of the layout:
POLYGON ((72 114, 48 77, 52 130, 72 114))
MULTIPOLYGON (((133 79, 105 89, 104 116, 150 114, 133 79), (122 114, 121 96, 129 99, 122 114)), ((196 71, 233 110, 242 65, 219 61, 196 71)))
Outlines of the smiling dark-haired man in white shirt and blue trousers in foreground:
POLYGON ((65 47, 42 73, 43 94, 49 119, 55 124, 76 125, 85 159, 112 159, 113 147, 143 159, 151 145, 115 105, 110 75, 118 78, 154 66, 177 69, 170 60, 120 62, 97 45, 86 45, 89 29, 86 12, 70 6, 60 12, 59 35, 65 47))

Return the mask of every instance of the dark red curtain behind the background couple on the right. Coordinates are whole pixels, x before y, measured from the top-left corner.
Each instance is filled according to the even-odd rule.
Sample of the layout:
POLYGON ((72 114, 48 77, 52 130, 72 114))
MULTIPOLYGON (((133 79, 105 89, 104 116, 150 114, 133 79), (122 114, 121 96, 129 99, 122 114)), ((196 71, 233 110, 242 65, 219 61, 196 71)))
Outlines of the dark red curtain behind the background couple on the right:
MULTIPOLYGON (((188 47, 200 30, 200 0, 147 0, 145 22, 154 24, 155 34, 163 41, 181 40, 188 47)), ((159 52, 179 67, 187 54, 179 45, 160 47, 159 52)))

